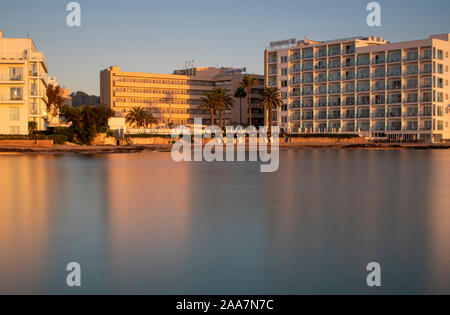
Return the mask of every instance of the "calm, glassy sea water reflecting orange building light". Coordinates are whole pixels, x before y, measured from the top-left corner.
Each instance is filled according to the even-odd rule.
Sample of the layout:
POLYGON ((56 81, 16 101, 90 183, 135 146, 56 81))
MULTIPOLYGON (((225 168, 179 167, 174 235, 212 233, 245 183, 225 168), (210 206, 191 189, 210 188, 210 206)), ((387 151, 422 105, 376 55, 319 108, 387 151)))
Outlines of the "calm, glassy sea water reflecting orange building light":
POLYGON ((450 293, 450 151, 281 151, 273 174, 1 155, 0 172, 0 293, 450 293))

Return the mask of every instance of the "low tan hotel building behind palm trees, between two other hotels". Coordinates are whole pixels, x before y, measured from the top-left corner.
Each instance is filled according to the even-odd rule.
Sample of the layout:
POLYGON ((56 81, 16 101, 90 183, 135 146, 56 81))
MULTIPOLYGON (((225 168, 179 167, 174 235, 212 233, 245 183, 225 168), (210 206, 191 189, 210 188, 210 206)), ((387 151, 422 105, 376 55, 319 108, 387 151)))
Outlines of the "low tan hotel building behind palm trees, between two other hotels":
MULTIPOLYGON (((141 106, 157 120, 159 126, 192 125, 195 117, 210 125, 208 110, 198 109, 200 99, 214 87, 225 87, 234 95, 244 74, 234 68, 197 67, 175 70, 174 74, 120 71, 111 66, 100 72, 100 103, 110 106, 116 115, 125 116, 131 108, 141 106)), ((254 101, 254 123, 264 123, 264 116, 256 100, 264 88, 264 76, 255 75, 260 84, 251 95, 254 101)), ((239 99, 231 110, 224 112, 224 124, 240 123, 239 99)), ((242 99, 242 121, 248 119, 247 99, 242 99)), ((218 115, 216 115, 218 119, 218 115)), ((216 121, 216 124, 218 122, 216 121)))

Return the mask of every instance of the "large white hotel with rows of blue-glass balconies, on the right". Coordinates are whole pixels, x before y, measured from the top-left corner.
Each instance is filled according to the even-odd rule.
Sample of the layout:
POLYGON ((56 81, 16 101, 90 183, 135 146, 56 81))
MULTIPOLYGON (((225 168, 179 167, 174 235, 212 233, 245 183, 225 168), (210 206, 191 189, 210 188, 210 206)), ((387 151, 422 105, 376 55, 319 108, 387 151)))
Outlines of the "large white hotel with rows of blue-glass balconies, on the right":
POLYGON ((292 133, 450 139, 449 52, 450 34, 398 43, 379 37, 271 43, 266 85, 277 86, 286 104, 274 120, 292 133))

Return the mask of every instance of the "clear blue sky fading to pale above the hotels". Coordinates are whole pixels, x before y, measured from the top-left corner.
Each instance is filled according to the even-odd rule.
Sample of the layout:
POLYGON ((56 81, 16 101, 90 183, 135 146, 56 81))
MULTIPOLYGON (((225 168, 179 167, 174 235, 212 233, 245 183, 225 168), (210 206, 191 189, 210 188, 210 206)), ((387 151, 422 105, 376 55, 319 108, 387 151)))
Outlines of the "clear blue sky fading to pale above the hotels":
POLYGON ((66 25, 65 0, 2 0, 6 37, 29 32, 50 75, 70 90, 99 93, 99 71, 171 73, 197 66, 246 66, 263 72, 269 41, 356 35, 391 41, 450 32, 449 0, 378 0, 382 26, 366 24, 371 0, 78 0, 81 27, 66 25))

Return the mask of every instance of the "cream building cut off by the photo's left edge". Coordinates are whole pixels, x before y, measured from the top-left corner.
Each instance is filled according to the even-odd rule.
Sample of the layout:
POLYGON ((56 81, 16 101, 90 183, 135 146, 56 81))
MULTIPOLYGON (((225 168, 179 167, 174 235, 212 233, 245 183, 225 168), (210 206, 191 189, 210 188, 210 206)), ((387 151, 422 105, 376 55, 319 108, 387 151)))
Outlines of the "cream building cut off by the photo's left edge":
POLYGON ((47 125, 47 61, 30 38, 4 38, 0 31, 0 134, 28 134, 47 125))

